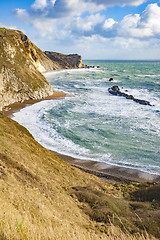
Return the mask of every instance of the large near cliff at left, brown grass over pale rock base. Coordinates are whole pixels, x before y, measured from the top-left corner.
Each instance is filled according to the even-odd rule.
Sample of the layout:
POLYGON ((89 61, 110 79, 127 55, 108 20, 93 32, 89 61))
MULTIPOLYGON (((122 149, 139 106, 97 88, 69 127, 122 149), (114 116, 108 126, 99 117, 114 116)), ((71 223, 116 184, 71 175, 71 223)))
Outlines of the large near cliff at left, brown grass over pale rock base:
POLYGON ((0 110, 14 102, 41 99, 53 89, 41 72, 54 63, 20 31, 0 29, 0 110))

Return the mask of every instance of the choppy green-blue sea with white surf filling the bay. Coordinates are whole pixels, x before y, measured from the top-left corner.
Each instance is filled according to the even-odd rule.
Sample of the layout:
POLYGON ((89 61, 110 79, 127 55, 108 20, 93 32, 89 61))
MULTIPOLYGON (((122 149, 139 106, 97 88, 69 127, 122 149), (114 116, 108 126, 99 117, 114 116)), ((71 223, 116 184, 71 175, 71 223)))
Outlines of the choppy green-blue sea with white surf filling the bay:
POLYGON ((13 119, 47 149, 160 175, 160 61, 83 63, 91 67, 44 74, 65 98, 27 106, 13 119), (111 95, 114 85, 152 106, 111 95))

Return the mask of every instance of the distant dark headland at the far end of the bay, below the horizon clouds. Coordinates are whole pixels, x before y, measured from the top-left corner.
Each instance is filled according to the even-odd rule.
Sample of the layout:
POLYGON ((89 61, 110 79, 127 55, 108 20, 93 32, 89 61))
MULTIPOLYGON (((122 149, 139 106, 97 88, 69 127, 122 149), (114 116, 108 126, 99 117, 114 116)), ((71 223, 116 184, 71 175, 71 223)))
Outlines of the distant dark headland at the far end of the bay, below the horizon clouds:
POLYGON ((62 69, 83 68, 82 57, 78 54, 65 55, 62 53, 45 51, 45 54, 53 61, 59 64, 62 69))

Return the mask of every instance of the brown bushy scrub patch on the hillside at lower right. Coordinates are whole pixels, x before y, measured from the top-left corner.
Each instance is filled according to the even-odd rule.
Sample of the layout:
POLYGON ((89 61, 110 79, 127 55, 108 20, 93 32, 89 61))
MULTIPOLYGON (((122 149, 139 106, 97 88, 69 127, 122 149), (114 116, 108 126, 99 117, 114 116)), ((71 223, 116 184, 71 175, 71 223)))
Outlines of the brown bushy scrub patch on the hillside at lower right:
MULTIPOLYGON (((157 189, 158 186, 155 188, 157 189)), ((138 192, 141 191, 143 194, 144 190, 138 192)), ((145 191, 148 192, 147 189, 145 191)), ((114 226, 121 228, 124 232, 127 230, 130 234, 143 234, 147 230, 160 238, 160 207, 159 202, 155 202, 155 199, 154 203, 139 202, 137 199, 133 199, 131 192, 131 201, 126 197, 115 197, 115 194, 113 195, 111 192, 102 192, 90 186, 74 187, 71 195, 78 199, 81 209, 96 222, 103 222, 106 226, 112 222, 114 226)), ((107 227, 105 231, 106 229, 107 227)))

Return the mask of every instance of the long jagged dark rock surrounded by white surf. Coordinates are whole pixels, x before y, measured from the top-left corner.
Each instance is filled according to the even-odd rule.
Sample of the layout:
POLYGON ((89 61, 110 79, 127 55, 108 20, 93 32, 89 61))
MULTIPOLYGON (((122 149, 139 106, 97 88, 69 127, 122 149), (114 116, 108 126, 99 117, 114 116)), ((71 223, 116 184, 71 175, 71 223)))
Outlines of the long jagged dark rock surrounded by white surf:
MULTIPOLYGON (((121 92, 120 91, 120 88, 118 86, 113 86, 111 88, 108 88, 108 91, 109 93, 111 93, 112 95, 115 95, 115 96, 122 96, 122 97, 125 97, 126 99, 131 99, 139 104, 142 104, 142 105, 149 105, 149 106, 152 106, 150 104, 150 102, 146 101, 146 100, 142 100, 142 99, 137 99, 137 98, 134 98, 132 95, 129 95, 127 93, 124 93, 124 92, 121 92)), ((126 91, 126 90, 125 90, 126 91)))

